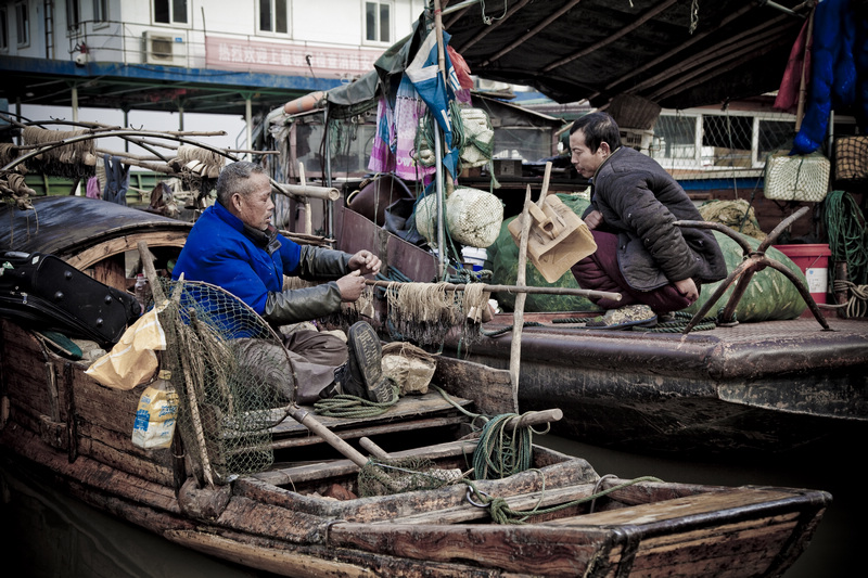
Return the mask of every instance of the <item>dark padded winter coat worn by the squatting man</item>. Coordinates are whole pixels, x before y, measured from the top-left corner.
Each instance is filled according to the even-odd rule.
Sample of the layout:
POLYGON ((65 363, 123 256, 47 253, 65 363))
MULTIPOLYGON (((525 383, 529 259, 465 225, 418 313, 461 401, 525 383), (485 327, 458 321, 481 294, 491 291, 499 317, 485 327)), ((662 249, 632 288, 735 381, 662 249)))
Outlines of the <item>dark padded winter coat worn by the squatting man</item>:
POLYGON ((710 230, 680 228, 702 220, 684 189, 653 158, 622 146, 597 169, 591 204, 598 229, 618 235, 621 272, 638 291, 691 278, 697 284, 726 278, 724 255, 710 230))

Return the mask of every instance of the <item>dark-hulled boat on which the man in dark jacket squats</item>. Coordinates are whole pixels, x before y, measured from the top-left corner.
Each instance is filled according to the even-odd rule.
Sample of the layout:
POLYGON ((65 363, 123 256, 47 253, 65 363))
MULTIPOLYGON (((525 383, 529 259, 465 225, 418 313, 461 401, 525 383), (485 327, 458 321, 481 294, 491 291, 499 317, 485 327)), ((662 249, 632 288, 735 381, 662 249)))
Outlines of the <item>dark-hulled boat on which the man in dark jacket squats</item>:
MULTIPOLYGON (((436 257, 348 209, 336 213, 344 251, 382 247, 408 278, 437 278, 436 257)), ((564 437, 644 453, 763 455, 845 442, 868 429, 868 320, 763 321, 688 334, 590 331, 596 313, 524 313, 522 411, 561 408, 564 437), (573 319, 573 323, 561 323, 573 319)), ((498 313, 445 355, 508 369, 512 313, 498 313)), ((439 347, 436 344, 432 347, 439 347)))

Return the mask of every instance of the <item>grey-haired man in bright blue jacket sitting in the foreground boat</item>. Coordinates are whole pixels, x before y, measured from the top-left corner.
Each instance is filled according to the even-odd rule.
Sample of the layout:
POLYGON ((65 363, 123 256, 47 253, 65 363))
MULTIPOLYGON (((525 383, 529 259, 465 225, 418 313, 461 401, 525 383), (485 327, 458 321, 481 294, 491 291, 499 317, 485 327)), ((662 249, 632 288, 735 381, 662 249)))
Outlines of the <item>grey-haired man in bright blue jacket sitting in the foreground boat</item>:
MULTIPOLYGON (((217 202, 205 209, 187 237, 173 279, 217 285, 247 304, 275 327, 340 311, 365 288, 362 275, 376 274, 380 258, 369 251, 349 255, 298 245, 271 224, 271 182, 259 165, 228 165, 217 180, 217 202), (283 275, 328 281, 283 291, 283 275)), ((296 401, 310 403, 334 394, 388 401, 381 347, 369 324, 349 330, 348 346, 330 333, 297 330, 284 337, 297 377, 296 401), (352 356, 349 355, 352 354, 352 356)))

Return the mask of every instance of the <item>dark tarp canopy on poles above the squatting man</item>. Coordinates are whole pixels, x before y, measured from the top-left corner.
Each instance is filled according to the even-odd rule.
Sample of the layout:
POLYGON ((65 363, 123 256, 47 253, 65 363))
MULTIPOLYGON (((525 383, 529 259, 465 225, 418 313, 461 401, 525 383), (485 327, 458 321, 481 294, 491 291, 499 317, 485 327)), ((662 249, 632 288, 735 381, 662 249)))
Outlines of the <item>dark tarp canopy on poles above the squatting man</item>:
MULTIPOLYGON (((531 86, 560 103, 587 99, 601 107, 618 94, 631 94, 666 108, 687 108, 777 90, 809 14, 804 4, 444 0, 443 24, 449 46, 481 78, 531 86), (449 4, 458 10, 449 12, 449 4)), ((330 90, 329 102, 371 101, 378 79, 385 81, 409 65, 423 39, 418 27, 378 60, 375 70, 330 90)))

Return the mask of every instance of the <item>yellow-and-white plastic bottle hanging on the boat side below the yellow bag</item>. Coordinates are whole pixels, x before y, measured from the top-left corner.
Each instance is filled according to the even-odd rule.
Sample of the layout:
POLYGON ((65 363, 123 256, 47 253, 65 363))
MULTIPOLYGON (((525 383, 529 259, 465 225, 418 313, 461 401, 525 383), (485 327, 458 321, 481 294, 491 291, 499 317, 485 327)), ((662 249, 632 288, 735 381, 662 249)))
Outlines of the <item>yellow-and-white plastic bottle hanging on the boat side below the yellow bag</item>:
POLYGON ((132 425, 132 445, 152 450, 168 448, 178 419, 178 395, 171 385, 171 372, 162 370, 156 381, 144 388, 132 425))

